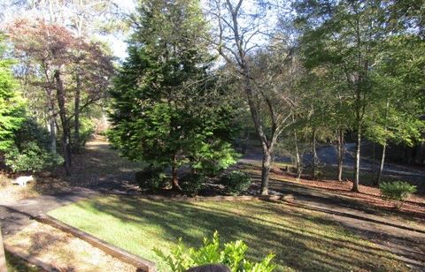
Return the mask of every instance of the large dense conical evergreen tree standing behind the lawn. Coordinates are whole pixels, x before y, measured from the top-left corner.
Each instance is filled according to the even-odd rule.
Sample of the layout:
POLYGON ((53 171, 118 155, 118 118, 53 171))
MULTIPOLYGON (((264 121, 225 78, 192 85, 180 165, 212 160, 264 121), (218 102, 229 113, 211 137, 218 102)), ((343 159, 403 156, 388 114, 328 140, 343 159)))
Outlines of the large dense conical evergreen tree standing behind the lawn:
POLYGON ((199 1, 141 1, 135 34, 112 90, 110 139, 122 155, 177 170, 220 170, 235 162, 232 106, 208 72, 199 1))

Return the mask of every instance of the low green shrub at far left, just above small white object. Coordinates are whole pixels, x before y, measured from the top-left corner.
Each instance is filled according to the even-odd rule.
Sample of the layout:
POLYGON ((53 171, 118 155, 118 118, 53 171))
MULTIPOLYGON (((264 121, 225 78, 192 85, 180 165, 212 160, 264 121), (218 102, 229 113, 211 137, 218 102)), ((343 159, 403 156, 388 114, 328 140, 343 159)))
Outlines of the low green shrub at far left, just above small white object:
POLYGON ((35 141, 21 145, 20 150, 13 147, 5 154, 6 165, 14 172, 40 171, 57 166, 64 162, 63 158, 40 147, 35 141))

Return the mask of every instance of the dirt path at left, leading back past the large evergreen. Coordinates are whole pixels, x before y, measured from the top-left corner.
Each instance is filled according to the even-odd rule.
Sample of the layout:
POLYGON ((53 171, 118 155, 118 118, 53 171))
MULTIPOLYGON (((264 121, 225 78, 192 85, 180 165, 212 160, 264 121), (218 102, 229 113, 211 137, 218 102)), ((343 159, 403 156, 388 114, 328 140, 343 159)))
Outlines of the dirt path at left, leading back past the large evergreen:
MULTIPOLYGON (((7 236, 21 230, 31 223, 32 216, 99 193, 138 193, 139 189, 132 181, 135 171, 142 166, 121 158, 105 140, 90 141, 84 153, 73 156, 72 175, 64 177, 59 173, 62 182, 69 186, 64 192, 26 200, 0 198, 0 223, 4 234, 7 236)), ((39 179, 39 182, 42 183, 42 180, 39 179)))

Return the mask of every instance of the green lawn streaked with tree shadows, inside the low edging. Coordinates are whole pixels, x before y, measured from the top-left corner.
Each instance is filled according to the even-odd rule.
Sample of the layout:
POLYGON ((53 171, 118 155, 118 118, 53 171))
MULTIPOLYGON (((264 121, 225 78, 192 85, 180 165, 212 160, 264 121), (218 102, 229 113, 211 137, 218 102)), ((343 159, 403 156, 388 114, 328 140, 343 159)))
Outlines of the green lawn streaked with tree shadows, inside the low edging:
MULTIPOLYGON (((219 230, 223 241, 243 239, 254 259, 275 253, 278 270, 408 270, 394 255, 378 249, 323 215, 264 201, 153 201, 102 197, 51 211, 65 223, 151 261, 178 238, 200 246, 219 230)), ((159 270, 165 266, 159 263, 159 270)))

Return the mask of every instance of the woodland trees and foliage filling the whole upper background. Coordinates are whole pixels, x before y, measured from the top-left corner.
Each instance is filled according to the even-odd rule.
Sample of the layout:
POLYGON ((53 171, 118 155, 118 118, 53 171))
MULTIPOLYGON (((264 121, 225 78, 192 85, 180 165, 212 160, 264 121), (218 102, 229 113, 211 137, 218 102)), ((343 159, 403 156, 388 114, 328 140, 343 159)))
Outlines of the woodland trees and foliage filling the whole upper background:
POLYGON ((396 146, 417 150, 415 162, 423 163, 420 5, 205 4, 140 1, 128 14, 107 0, 12 4, 22 16, 2 17, 13 105, 3 113, 4 163, 41 148, 35 153, 54 155, 55 163, 62 156, 70 173, 72 153, 83 150, 93 117, 104 120, 106 108, 112 145, 151 171, 170 171, 176 190, 180 171, 218 175, 252 142, 262 155, 261 194, 279 155, 298 178, 304 170, 319 178, 324 144, 336 148, 335 178, 352 179, 355 192, 365 143, 374 145, 375 185, 396 146), (125 34, 120 61, 100 41, 125 34), (27 140, 37 147, 19 143, 25 122, 42 135, 27 140), (352 152, 354 176, 346 177, 352 152))

